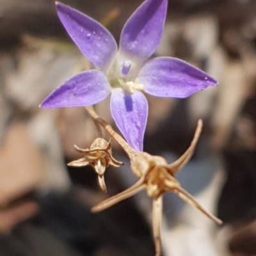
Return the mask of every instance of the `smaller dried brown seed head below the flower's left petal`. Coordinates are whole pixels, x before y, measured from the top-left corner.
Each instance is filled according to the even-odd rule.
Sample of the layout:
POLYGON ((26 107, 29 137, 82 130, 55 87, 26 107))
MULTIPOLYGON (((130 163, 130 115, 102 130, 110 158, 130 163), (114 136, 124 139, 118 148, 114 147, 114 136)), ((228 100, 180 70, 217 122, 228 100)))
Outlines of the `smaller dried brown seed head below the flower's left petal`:
POLYGON ((90 149, 82 149, 74 145, 76 150, 83 154, 84 157, 71 163, 68 163, 68 166, 86 166, 92 165, 95 172, 98 174, 99 185, 102 191, 107 192, 106 184, 104 181, 104 172, 106 167, 113 165, 115 167, 120 167, 124 163, 117 161, 112 156, 111 150, 111 140, 106 141, 102 138, 97 138, 93 141, 90 149))

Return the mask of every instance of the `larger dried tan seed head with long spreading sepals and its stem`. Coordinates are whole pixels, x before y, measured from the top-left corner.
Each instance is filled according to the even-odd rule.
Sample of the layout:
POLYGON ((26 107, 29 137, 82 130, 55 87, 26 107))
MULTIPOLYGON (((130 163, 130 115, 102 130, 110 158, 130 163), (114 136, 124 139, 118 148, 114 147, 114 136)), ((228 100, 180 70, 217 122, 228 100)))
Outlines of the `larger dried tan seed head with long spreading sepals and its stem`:
POLYGON ((160 228, 161 221, 163 215, 163 194, 168 191, 172 191, 177 194, 182 200, 187 202, 188 204, 193 205, 199 211, 205 214, 205 216, 209 217, 211 220, 215 221, 218 224, 221 224, 222 221, 211 213, 206 211, 198 202, 196 202, 195 198, 191 196, 187 191, 181 188, 178 180, 175 179, 175 173, 177 173, 186 163, 188 163, 189 159, 193 155, 195 151, 196 143, 200 137, 200 133, 202 131, 202 120, 198 121, 198 125, 196 127, 195 136, 189 146, 188 150, 172 164, 168 164, 166 159, 161 156, 151 156, 146 152, 137 152, 132 149, 126 141, 124 141, 115 131, 113 131, 112 127, 108 125, 104 120, 97 117, 95 113, 93 113, 92 109, 87 109, 88 113, 97 121, 100 125, 102 125, 124 148, 125 152, 131 159, 131 170, 136 175, 139 180, 131 186, 131 188, 126 189, 125 191, 119 193, 118 195, 112 196, 103 202, 95 205, 92 208, 92 212, 99 212, 108 207, 111 207, 118 202, 129 198, 132 195, 135 195, 139 191, 145 189, 147 191, 147 195, 152 197, 153 206, 152 206, 152 223, 153 223, 153 232, 154 232, 154 241, 156 245, 156 256, 161 254, 161 237, 160 237, 160 228))

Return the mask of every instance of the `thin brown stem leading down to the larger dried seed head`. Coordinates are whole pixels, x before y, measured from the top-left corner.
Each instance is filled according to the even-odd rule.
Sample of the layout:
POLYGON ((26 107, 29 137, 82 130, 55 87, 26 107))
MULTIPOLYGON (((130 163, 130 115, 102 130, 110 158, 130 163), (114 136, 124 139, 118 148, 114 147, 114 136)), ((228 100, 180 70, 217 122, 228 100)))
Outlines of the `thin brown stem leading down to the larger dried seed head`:
POLYGON ((126 154, 131 157, 136 151, 108 124, 104 119, 95 113, 92 106, 85 107, 86 111, 90 116, 92 116, 93 120, 100 124, 108 133, 115 138, 118 144, 125 150, 126 154))

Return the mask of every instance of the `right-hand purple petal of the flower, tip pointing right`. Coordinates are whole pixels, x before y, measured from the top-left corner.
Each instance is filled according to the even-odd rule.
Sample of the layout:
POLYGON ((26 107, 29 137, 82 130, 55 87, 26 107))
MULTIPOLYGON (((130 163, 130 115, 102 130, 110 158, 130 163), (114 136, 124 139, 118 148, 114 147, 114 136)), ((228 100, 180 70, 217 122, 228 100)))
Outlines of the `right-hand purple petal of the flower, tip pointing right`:
POLYGON ((186 61, 160 57, 143 65, 135 83, 143 84, 145 92, 154 96, 185 98, 217 81, 186 61))

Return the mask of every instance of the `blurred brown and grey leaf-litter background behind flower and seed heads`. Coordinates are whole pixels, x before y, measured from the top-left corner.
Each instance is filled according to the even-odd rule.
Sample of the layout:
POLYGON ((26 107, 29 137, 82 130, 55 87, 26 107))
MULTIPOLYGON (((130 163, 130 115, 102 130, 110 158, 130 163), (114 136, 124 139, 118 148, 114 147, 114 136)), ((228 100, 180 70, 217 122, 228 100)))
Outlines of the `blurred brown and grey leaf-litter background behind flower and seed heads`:
MULTIPOLYGON (((141 0, 63 0, 105 22, 117 42, 141 0), (108 21, 108 22, 107 22, 108 21)), ((53 0, 0 0, 0 255, 154 255, 145 193, 99 214, 90 208, 136 182, 108 168, 108 193, 91 167, 68 168, 95 127, 83 108, 40 109, 54 88, 91 64, 68 38, 53 0)), ((256 1, 169 0, 155 56, 186 60, 219 81, 188 99, 148 97, 144 150, 169 163, 204 131, 182 187, 224 224, 217 227, 175 195, 164 196, 166 256, 256 255, 256 1)), ((112 124, 109 99, 97 105, 112 124)), ((104 134, 109 138, 108 134, 104 134)))

